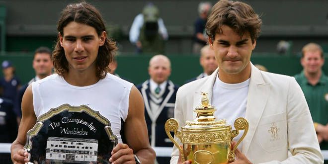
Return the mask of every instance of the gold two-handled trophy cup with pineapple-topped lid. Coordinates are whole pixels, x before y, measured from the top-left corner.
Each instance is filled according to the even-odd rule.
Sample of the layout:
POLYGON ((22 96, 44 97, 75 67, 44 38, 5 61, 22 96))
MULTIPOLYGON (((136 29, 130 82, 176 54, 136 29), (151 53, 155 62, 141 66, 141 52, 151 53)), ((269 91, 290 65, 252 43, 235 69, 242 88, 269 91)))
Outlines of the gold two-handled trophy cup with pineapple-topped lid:
POLYGON ((214 107, 209 104, 207 93, 202 92, 201 105, 194 110, 197 117, 187 121, 181 131, 178 131, 178 122, 171 118, 165 123, 168 138, 179 149, 181 161, 191 160, 193 164, 228 164, 235 161, 235 150, 246 136, 248 122, 245 118, 237 118, 232 130, 231 125, 226 125, 226 120, 216 120, 214 107), (245 130, 241 139, 232 149, 232 140, 240 130, 245 130), (170 132, 180 139, 182 149, 173 139, 170 132))

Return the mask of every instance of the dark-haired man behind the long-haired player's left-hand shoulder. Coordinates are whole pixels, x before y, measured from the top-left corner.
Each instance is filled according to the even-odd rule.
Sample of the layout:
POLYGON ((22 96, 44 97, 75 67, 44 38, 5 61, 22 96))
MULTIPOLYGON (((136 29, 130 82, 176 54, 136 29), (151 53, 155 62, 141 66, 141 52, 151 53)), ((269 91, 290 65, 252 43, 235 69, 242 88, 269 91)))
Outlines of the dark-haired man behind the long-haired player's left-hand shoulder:
POLYGON ((51 60, 51 50, 48 47, 39 47, 35 50, 33 56, 32 67, 35 71, 35 77, 31 79, 28 83, 24 84, 19 88, 17 94, 17 100, 15 102, 14 110, 17 115, 17 122, 20 123, 22 116, 21 103, 23 94, 29 84, 41 80, 52 74, 53 63, 51 60))

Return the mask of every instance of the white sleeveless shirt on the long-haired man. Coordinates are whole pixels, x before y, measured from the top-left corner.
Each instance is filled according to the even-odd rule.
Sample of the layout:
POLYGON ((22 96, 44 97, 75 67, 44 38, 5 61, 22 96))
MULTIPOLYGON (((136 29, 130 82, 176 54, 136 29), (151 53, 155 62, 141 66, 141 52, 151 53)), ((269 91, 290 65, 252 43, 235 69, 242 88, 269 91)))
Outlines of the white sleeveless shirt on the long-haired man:
POLYGON ((125 121, 128 116, 132 86, 131 82, 111 74, 89 86, 74 86, 54 74, 32 83, 34 112, 39 117, 63 104, 86 105, 110 121, 112 132, 122 143, 121 119, 125 121))

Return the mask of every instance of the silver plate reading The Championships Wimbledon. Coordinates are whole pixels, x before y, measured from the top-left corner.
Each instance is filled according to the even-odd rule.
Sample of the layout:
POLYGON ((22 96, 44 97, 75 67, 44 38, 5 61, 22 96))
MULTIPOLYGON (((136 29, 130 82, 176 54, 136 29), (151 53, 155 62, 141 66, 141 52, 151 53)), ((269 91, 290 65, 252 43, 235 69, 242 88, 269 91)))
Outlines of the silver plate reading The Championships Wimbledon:
POLYGON ((109 120, 98 111, 63 104, 38 117, 24 149, 34 164, 109 164, 117 143, 109 120))

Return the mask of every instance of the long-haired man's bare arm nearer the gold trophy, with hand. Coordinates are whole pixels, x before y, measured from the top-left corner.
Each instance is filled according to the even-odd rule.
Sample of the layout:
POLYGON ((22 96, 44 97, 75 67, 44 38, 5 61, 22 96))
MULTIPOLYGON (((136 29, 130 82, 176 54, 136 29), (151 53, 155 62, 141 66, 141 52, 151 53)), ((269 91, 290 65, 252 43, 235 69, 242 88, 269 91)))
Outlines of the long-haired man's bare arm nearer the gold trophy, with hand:
POLYGON ((116 145, 109 159, 112 164, 135 164, 134 154, 142 164, 155 163, 156 154, 149 144, 144 112, 141 93, 133 86, 129 95, 129 112, 124 122, 127 144, 116 145))

